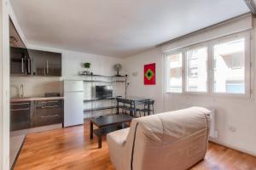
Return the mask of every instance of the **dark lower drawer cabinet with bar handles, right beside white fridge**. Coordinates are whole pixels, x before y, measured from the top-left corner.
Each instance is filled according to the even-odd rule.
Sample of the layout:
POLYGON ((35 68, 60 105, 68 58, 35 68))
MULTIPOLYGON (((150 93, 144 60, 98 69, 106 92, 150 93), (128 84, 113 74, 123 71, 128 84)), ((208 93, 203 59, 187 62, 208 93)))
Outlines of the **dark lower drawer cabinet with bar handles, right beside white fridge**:
POLYGON ((35 114, 32 118, 33 127, 63 123, 63 100, 36 101, 35 114))

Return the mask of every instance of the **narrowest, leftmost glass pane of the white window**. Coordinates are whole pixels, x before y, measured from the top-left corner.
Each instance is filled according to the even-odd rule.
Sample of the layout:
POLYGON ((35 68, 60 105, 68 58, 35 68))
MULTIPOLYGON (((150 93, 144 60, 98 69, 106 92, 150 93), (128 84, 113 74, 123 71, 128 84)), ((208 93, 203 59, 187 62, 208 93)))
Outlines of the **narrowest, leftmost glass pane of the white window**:
POLYGON ((182 80, 182 65, 183 55, 167 54, 167 86, 168 92, 182 93, 183 80, 182 80))

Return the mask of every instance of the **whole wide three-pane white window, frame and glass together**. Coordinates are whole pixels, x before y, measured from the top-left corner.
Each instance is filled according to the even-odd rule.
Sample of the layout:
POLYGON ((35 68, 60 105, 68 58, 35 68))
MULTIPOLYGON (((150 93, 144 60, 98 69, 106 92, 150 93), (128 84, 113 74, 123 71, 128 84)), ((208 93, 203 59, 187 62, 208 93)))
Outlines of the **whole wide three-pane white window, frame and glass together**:
POLYGON ((166 54, 167 92, 249 97, 250 46, 245 31, 166 54))

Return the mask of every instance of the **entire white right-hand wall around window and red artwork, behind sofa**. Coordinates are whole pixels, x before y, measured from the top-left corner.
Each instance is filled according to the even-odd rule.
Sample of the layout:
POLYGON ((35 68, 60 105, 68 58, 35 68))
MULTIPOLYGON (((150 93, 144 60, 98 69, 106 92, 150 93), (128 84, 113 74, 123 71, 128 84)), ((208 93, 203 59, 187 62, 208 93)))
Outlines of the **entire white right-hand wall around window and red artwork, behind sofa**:
MULTIPOLYGON (((255 35, 255 20, 253 22, 255 35)), ((200 37, 200 35, 197 35, 197 37, 200 37)), ((251 57, 252 60, 255 60, 255 36, 253 38, 254 51, 251 57)), ((189 42, 187 40, 183 41, 189 42)), ((172 42, 169 47, 177 47, 178 44, 181 44, 181 42, 172 42)), ((256 102, 254 96, 252 99, 238 99, 235 97, 214 97, 199 94, 164 94, 164 84, 161 83, 161 80, 162 82, 164 80, 165 74, 163 74, 162 70, 165 68, 165 63, 162 60, 164 59, 160 48, 154 48, 124 60, 125 71, 129 73, 131 82, 129 94, 156 99, 157 112, 174 111, 186 105, 214 108, 217 115, 216 127, 219 132, 216 142, 256 156, 256 102), (145 86, 143 85, 143 65, 152 62, 157 65, 156 85, 145 86), (137 77, 131 76, 133 71, 138 71, 137 77), (235 132, 231 132, 230 127, 235 127, 235 132)), ((252 79, 253 82, 256 79, 255 77, 252 79)), ((254 82, 254 84, 256 83, 254 82)), ((253 91, 255 92, 255 90, 256 87, 253 86, 253 91)))

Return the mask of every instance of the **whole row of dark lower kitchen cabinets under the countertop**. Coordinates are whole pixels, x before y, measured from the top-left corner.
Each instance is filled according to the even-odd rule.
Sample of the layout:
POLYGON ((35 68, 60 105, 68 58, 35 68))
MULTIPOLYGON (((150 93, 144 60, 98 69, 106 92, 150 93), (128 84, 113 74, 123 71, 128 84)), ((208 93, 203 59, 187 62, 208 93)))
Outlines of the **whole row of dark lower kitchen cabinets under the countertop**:
POLYGON ((10 130, 63 123, 63 99, 11 102, 10 130))

